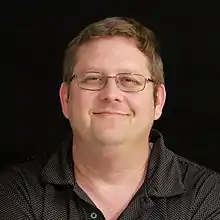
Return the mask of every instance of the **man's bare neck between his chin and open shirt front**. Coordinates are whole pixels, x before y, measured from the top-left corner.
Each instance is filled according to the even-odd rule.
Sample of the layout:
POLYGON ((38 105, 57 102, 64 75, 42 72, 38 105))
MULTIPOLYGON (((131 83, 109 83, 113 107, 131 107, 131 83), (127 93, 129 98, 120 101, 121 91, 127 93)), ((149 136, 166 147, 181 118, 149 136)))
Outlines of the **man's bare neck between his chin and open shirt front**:
POLYGON ((145 139, 126 146, 97 147, 76 139, 73 145, 76 179, 93 185, 138 184, 146 175, 148 143, 145 139))

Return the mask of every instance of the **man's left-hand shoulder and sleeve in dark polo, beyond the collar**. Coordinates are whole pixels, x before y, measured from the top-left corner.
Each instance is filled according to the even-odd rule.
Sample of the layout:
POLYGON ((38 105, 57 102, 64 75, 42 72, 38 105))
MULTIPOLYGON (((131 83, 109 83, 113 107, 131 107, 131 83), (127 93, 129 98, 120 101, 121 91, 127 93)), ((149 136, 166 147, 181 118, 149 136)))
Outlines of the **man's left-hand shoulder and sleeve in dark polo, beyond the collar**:
POLYGON ((43 196, 40 175, 44 164, 44 159, 34 160, 0 173, 0 216, 3 219, 34 219, 39 215, 43 196))

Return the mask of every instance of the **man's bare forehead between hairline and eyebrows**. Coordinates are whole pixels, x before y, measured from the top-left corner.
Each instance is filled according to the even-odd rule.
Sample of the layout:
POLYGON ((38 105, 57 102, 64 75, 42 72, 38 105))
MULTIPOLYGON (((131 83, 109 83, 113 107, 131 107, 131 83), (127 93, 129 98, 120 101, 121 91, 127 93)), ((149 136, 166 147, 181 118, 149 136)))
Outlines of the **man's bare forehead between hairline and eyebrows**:
POLYGON ((137 48, 135 41, 125 37, 90 40, 77 53, 76 71, 148 72, 147 57, 137 48))

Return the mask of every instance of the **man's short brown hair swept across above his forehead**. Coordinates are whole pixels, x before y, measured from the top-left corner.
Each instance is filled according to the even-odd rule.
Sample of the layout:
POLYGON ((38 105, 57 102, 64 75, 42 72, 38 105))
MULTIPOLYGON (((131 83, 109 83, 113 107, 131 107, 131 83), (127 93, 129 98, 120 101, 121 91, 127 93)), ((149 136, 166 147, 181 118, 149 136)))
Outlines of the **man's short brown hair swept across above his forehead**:
POLYGON ((149 60, 151 78, 164 84, 163 62, 158 53, 158 44, 153 31, 130 18, 112 17, 92 23, 80 32, 68 45, 64 57, 63 81, 67 84, 72 77, 78 48, 97 37, 125 36, 134 39, 137 48, 149 60))

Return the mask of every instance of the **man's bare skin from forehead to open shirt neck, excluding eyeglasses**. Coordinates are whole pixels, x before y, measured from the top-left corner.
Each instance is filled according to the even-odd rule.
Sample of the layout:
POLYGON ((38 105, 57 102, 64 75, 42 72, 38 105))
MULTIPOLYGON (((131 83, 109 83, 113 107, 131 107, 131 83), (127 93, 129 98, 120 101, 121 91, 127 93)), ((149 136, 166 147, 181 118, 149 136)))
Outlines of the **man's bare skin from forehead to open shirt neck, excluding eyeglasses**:
MULTIPOLYGON (((148 59, 134 41, 118 36, 91 40, 79 48, 75 72, 90 70, 108 76, 120 72, 151 76, 148 59)), ((111 201, 120 195, 123 209, 143 182, 150 155, 149 133, 162 114, 165 99, 165 88, 160 85, 154 100, 152 83, 141 92, 128 93, 114 79, 101 91, 80 89, 73 80, 69 96, 62 83, 62 111, 74 133, 76 180, 103 212, 101 204, 113 206, 111 201)))

